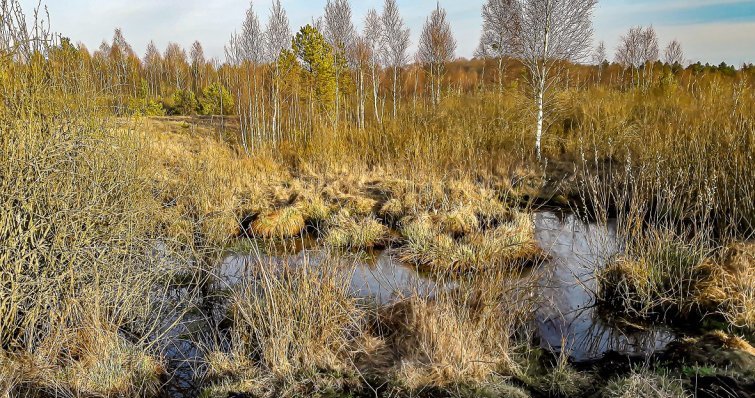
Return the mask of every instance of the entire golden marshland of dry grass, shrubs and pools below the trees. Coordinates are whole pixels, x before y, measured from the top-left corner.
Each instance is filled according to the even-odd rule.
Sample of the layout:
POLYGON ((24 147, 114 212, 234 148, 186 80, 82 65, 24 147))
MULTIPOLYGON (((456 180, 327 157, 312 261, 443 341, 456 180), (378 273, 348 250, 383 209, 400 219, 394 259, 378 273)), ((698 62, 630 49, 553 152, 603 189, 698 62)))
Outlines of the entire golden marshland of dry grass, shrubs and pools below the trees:
POLYGON ((752 67, 566 65, 538 159, 515 59, 432 101, 386 68, 371 120, 359 80, 337 109, 277 61, 170 86, 40 26, 0 49, 0 396, 755 391, 752 67), (164 115, 191 90, 208 115, 164 115))

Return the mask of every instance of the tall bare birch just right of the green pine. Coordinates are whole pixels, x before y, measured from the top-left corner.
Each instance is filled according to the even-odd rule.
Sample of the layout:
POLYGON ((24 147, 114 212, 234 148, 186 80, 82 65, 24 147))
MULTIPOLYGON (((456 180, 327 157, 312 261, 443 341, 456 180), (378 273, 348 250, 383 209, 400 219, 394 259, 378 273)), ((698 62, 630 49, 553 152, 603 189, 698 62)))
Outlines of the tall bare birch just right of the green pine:
MULTIPOLYGON (((351 22, 351 6, 348 0, 328 0, 325 5, 324 36, 333 47, 333 62, 336 74, 336 115, 335 123, 340 120, 341 80, 348 69, 345 60, 354 61, 353 53, 356 30, 351 22)), ((353 64, 353 62, 352 62, 353 64)))

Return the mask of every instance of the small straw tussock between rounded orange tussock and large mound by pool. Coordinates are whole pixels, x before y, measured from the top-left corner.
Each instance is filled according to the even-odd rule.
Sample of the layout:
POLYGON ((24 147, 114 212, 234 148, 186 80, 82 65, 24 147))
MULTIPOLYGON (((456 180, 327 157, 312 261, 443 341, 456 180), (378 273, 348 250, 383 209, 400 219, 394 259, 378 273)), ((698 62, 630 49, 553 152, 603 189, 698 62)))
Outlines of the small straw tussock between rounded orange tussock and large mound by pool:
POLYGON ((328 221, 324 242, 335 248, 370 249, 384 245, 388 232, 374 216, 356 218, 341 210, 328 221))

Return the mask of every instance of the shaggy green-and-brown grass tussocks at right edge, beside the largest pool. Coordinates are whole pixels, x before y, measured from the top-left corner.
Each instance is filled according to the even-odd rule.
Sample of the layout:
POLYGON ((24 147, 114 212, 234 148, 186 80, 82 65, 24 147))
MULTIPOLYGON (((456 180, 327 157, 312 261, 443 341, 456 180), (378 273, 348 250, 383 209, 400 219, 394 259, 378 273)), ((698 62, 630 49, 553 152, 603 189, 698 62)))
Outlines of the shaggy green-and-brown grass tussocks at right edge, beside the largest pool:
POLYGON ((617 258, 600 272, 600 301, 641 318, 714 315, 755 329, 752 243, 713 250, 656 231, 630 252, 637 254, 617 258))

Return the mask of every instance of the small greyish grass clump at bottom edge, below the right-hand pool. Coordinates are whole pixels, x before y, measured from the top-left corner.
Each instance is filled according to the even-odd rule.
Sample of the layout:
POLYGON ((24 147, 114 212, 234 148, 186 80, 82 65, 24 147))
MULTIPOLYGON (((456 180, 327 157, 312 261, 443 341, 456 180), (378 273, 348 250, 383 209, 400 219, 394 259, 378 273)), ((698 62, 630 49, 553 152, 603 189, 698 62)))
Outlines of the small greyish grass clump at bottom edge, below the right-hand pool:
POLYGON ((608 398, 688 398, 681 380, 647 369, 634 369, 626 376, 611 380, 603 390, 608 398))

